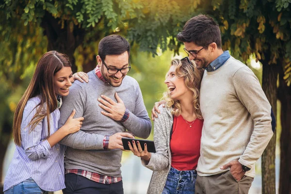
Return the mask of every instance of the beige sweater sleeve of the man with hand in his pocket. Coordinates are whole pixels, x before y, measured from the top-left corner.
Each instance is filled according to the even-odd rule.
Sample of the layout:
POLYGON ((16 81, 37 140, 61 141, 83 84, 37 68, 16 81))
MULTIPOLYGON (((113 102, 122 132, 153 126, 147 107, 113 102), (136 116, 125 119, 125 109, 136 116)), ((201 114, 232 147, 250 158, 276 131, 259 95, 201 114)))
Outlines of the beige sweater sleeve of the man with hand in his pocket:
POLYGON ((273 136, 271 105, 258 78, 247 66, 240 68, 234 74, 233 84, 238 98, 255 121, 250 141, 239 159, 240 163, 251 168, 273 136))

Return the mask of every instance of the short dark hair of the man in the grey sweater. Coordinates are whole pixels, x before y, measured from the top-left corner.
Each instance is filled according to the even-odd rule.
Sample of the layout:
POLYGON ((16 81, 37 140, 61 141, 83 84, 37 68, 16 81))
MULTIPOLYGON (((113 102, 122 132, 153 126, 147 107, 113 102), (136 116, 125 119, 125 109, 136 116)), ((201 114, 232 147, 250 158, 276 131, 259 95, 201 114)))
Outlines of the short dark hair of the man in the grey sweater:
POLYGON ((99 42, 98 55, 105 60, 106 55, 120 55, 125 51, 129 54, 129 42, 120 35, 109 35, 99 42))

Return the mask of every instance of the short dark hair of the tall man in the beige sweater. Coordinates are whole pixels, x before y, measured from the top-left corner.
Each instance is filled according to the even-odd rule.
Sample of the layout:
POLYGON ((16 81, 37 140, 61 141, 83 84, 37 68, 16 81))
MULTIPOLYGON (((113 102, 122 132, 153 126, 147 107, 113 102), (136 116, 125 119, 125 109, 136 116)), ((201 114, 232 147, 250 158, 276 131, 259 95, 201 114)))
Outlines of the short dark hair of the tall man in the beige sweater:
POLYGON ((201 47, 215 42, 217 48, 221 49, 220 30, 218 24, 210 16, 200 14, 189 19, 183 31, 178 33, 177 39, 181 42, 193 42, 201 47))

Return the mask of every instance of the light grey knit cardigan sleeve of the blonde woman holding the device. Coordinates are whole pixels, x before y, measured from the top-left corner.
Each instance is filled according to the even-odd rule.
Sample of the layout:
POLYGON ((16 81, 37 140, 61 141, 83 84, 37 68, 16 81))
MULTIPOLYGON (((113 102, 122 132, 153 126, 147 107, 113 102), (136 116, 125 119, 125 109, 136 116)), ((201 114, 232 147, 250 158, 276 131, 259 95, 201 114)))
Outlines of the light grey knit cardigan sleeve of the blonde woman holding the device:
POLYGON ((142 164, 152 171, 159 171, 168 168, 169 166, 169 151, 168 150, 168 138, 166 134, 165 124, 162 123, 163 115, 161 112, 158 118, 154 120, 154 142, 156 147, 156 153, 151 153, 149 162, 142 160, 142 164))

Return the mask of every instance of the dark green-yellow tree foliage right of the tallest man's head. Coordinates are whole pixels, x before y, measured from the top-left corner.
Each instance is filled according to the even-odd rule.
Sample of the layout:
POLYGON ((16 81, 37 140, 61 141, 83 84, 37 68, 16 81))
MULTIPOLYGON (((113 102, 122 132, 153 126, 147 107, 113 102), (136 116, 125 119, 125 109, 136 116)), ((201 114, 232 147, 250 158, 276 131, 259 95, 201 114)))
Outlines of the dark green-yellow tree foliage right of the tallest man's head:
MULTIPOLYGON (((220 0, 210 0, 210 4, 220 0)), ((257 61, 277 65, 284 61, 291 83, 291 0, 223 0, 219 7, 204 7, 219 23, 223 49, 244 62, 255 53, 257 61), (282 60, 283 59, 283 60, 282 60)))

